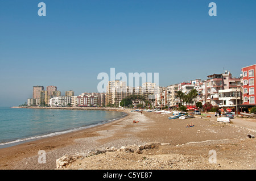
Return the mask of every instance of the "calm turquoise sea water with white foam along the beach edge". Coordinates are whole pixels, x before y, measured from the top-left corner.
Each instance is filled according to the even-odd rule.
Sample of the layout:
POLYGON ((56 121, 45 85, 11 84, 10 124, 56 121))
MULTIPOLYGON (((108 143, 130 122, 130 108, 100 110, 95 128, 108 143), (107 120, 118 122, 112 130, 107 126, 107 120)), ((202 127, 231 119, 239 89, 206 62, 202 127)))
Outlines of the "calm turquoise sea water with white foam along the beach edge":
POLYGON ((125 116, 123 112, 0 107, 0 148, 93 127, 125 116))

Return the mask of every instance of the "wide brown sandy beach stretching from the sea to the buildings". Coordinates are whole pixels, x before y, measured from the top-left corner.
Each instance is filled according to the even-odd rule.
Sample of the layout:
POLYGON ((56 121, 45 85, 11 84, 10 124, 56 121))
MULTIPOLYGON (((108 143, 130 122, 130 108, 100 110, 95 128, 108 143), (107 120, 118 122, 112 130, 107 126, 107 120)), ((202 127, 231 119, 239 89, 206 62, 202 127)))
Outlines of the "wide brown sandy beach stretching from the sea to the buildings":
POLYGON ((214 117, 169 120, 168 114, 130 112, 120 120, 59 136, 0 149, 0 169, 56 169, 56 159, 80 155, 62 169, 256 169, 255 119, 218 123, 214 117), (138 123, 133 123, 139 121, 138 123), (187 128, 187 124, 195 125, 187 128), (141 153, 89 151, 145 145, 141 153), (162 144, 160 144, 162 143, 162 144), (46 163, 38 151, 46 151, 46 163), (216 151, 217 163, 209 162, 216 151))

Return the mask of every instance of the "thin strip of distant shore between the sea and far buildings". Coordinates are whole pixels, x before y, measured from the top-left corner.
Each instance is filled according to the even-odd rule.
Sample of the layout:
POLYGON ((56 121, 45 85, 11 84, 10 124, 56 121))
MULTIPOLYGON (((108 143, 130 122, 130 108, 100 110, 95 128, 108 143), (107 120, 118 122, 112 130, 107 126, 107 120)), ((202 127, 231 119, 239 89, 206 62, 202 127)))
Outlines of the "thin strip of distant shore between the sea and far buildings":
POLYGON ((37 106, 13 106, 11 108, 30 108, 30 109, 55 109, 55 110, 101 110, 101 111, 130 111, 130 108, 113 107, 37 107, 37 106))

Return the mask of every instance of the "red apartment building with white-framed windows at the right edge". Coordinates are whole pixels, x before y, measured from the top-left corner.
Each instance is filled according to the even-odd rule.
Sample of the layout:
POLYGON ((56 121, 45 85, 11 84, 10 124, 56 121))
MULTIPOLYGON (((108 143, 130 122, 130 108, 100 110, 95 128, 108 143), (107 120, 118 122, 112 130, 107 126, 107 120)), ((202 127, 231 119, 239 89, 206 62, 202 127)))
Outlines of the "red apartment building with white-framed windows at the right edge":
POLYGON ((255 78, 256 64, 242 68, 243 107, 254 107, 255 104, 255 78))

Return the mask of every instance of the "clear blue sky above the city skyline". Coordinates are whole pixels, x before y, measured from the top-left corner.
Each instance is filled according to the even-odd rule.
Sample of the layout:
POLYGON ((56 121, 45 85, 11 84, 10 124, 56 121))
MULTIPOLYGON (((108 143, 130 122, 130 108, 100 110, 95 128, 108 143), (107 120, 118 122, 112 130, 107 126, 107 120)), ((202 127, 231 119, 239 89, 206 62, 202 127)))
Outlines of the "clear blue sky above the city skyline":
POLYGON ((255 9, 255 0, 2 0, 0 106, 23 104, 36 85, 96 92, 110 68, 159 73, 160 86, 224 69, 239 77, 256 64, 255 9))

